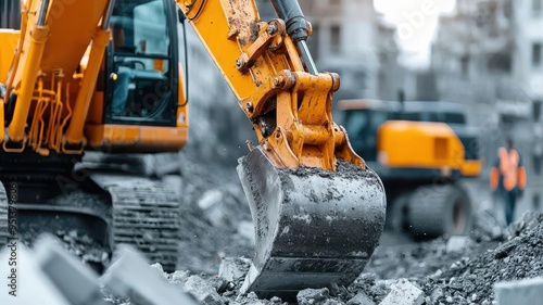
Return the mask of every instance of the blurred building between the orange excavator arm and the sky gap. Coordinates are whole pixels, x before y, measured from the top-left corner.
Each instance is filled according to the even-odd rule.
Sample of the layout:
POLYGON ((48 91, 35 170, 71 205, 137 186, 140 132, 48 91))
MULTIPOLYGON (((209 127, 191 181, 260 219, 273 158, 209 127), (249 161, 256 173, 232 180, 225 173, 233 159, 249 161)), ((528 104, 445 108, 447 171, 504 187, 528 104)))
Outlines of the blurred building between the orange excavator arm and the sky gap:
MULTIPOLYGON (((275 17, 269 1, 257 1, 263 20, 275 17)), ((395 27, 372 0, 300 0, 313 26, 307 43, 320 71, 339 73, 334 99, 395 99, 402 84, 395 27)))

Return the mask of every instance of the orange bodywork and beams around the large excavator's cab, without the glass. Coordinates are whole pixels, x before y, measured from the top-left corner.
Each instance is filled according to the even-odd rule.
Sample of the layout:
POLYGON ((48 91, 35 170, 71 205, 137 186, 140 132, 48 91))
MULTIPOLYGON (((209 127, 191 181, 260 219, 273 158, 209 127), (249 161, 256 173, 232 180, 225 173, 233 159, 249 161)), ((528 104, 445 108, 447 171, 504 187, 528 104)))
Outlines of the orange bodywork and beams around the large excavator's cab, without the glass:
POLYGON ((105 101, 103 91, 97 90, 97 81, 111 40, 110 29, 101 26, 110 1, 66 4, 50 0, 40 24, 43 3, 24 1, 21 34, 0 33, 4 103, 10 94, 17 96, 11 123, 4 126, 8 138, 3 150, 22 152, 30 147, 42 155, 50 151, 81 154, 89 144, 109 151, 178 151, 188 139, 188 106, 182 105, 182 89, 176 126, 134 127, 103 122, 105 101), (9 53, 13 55, 3 56, 9 53))

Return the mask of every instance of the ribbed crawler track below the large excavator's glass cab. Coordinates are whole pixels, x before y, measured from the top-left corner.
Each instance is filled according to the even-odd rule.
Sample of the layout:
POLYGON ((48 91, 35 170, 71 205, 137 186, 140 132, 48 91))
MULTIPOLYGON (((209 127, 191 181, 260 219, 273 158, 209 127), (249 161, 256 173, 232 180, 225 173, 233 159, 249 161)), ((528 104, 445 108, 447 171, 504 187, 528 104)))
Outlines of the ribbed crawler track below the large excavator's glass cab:
POLYGON ((112 199, 113 244, 131 244, 164 270, 174 271, 179 253, 179 199, 160 181, 126 175, 92 174, 112 199))

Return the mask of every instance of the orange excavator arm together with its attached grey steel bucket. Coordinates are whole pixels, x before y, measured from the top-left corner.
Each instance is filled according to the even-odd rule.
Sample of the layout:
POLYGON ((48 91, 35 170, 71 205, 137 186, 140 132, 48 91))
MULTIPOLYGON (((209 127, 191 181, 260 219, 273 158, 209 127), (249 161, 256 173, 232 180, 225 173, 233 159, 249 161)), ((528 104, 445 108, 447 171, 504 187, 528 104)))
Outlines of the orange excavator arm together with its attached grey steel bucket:
POLYGON ((358 277, 382 232, 386 195, 332 120, 340 78, 317 72, 298 1, 272 3, 278 18, 266 23, 253 0, 177 1, 260 142, 238 166, 256 232, 242 292, 288 300, 358 277))

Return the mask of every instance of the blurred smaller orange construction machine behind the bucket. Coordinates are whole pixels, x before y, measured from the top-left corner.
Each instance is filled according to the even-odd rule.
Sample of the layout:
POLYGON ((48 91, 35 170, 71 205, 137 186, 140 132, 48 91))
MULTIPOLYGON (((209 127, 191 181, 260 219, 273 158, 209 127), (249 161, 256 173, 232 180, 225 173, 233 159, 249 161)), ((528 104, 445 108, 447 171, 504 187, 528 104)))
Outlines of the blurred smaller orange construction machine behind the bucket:
POLYGON ((460 104, 344 100, 343 124, 355 152, 381 177, 387 225, 418 239, 466 234, 473 206, 458 183, 477 177, 477 130, 460 104))

